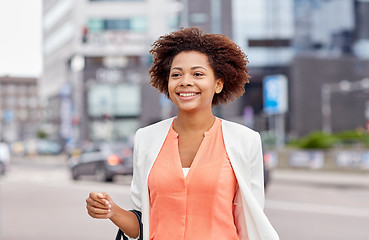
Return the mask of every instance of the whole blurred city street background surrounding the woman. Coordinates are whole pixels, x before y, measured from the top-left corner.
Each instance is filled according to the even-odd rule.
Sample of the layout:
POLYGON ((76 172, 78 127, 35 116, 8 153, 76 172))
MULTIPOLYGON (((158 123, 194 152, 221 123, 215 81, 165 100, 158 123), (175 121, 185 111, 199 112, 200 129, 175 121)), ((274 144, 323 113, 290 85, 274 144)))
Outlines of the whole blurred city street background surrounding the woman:
POLYGON ((0 239, 114 237, 84 199, 129 207, 135 131, 176 115, 148 51, 188 26, 248 56, 214 113, 261 133, 281 239, 369 239, 368 0, 1 0, 0 239))

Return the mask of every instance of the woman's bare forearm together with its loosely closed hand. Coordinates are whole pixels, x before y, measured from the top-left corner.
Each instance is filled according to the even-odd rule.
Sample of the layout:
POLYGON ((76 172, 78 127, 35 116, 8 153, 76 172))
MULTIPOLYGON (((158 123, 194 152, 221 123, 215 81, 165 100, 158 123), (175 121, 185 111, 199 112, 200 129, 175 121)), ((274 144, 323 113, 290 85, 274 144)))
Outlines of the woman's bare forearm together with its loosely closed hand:
POLYGON ((91 192, 86 203, 87 212, 91 217, 110 219, 129 237, 138 237, 139 224, 136 215, 120 208, 107 193, 91 192))

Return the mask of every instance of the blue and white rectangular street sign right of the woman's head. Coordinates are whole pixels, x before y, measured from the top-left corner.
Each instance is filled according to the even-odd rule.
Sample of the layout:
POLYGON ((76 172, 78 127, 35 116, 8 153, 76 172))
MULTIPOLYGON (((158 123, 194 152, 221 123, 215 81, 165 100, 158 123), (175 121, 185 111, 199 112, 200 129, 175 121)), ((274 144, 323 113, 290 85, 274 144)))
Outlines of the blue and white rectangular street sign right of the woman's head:
POLYGON ((269 75, 263 80, 264 111, 267 114, 286 113, 288 110, 287 78, 269 75))

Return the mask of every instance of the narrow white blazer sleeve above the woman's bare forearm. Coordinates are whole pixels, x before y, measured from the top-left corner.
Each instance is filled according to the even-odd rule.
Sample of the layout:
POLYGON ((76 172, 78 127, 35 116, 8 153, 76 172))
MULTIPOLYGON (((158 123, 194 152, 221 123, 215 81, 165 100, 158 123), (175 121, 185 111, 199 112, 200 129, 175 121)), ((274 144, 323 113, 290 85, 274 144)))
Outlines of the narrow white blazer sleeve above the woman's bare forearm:
POLYGON ((135 138, 134 138, 134 147, 133 147, 133 177, 131 182, 131 201, 133 204, 133 209, 141 211, 142 203, 141 203, 141 182, 140 179, 140 142, 141 131, 137 130, 135 138))

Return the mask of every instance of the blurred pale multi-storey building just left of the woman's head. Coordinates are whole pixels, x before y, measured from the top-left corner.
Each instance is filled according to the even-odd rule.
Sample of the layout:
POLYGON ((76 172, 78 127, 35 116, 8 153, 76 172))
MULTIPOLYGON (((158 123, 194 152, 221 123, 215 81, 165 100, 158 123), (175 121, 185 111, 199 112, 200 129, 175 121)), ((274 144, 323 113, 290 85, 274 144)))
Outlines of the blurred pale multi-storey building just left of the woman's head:
POLYGON ((66 141, 113 140, 172 114, 148 84, 148 51, 178 29, 181 7, 173 0, 44 0, 40 94, 48 128, 66 141))

